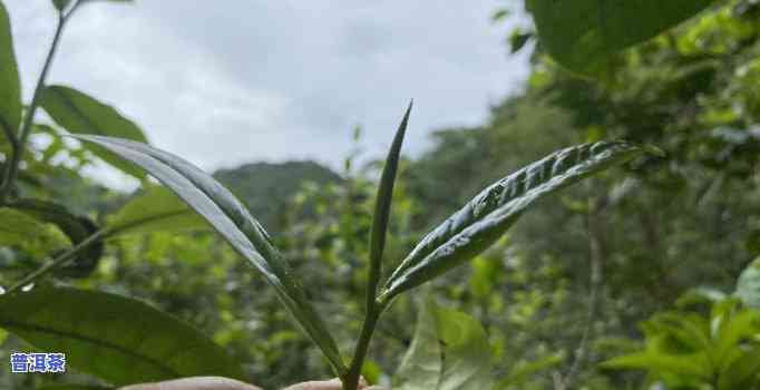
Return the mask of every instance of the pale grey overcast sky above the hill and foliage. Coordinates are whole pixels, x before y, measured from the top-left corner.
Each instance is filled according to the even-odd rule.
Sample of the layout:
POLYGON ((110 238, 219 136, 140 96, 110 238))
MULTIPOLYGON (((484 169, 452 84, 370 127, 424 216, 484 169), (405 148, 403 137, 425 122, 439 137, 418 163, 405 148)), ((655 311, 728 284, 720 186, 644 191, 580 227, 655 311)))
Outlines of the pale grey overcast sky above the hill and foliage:
MULTIPOLYGON (((55 13, 6 0, 29 99, 55 13)), ((503 1, 138 0, 84 7, 49 81, 136 120, 150 142, 205 169, 313 158, 333 167, 355 125, 369 155, 390 144, 410 98, 405 152, 435 129, 483 123, 522 88, 527 58, 507 56, 503 1)))

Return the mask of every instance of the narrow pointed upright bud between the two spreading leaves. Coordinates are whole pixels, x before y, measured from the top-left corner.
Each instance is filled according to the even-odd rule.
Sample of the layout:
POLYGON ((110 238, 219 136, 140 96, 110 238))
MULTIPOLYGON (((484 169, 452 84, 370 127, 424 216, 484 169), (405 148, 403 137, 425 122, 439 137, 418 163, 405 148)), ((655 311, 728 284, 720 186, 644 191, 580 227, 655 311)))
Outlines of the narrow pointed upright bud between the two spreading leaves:
POLYGON ((390 218, 390 207, 393 198, 393 184, 396 183, 396 172, 399 167, 399 156, 401 155, 401 145, 403 144, 403 136, 407 133, 407 125, 409 124, 409 115, 413 101, 409 103, 407 113, 401 119, 399 128, 396 130, 393 144, 388 150, 386 165, 382 168, 382 176, 380 177, 380 186, 378 187, 378 195, 374 204, 374 213, 372 214, 372 230, 370 231, 370 277, 369 291, 372 299, 378 287, 378 282, 382 272, 382 252, 386 247, 386 235, 388 234, 388 220, 390 218))

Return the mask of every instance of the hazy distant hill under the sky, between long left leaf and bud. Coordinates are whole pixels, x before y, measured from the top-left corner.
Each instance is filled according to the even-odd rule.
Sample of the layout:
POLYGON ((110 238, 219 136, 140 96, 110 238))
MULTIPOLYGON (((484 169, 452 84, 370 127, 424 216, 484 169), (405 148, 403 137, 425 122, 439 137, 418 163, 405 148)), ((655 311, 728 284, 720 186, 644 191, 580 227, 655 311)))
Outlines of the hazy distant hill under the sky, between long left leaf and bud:
POLYGON ((280 227, 277 215, 304 182, 339 182, 334 172, 314 162, 282 164, 254 163, 233 169, 220 169, 214 177, 230 188, 267 231, 280 227))

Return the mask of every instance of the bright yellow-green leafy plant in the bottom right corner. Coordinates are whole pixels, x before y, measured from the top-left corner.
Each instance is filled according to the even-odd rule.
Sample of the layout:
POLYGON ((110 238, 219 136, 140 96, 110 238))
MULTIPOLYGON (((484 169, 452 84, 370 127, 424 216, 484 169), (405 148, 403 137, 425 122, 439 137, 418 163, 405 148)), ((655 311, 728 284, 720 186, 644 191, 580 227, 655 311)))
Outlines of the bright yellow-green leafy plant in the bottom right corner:
POLYGON ((642 350, 611 359, 607 369, 644 370, 669 389, 757 389, 760 386, 760 261, 744 270, 733 296, 694 290, 679 310, 641 324, 642 350))

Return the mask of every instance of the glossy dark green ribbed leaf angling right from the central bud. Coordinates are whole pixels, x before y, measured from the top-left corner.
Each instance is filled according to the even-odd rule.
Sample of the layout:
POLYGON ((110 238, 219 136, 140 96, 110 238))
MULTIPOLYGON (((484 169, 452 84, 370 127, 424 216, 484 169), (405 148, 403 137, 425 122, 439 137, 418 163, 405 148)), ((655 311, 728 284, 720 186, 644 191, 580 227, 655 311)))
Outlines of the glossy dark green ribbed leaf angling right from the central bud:
POLYGON ((496 182, 422 238, 388 280, 380 299, 389 300, 465 263, 498 240, 534 202, 641 152, 623 142, 584 144, 496 182))

